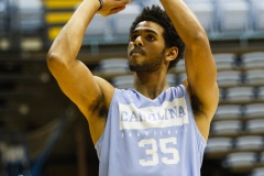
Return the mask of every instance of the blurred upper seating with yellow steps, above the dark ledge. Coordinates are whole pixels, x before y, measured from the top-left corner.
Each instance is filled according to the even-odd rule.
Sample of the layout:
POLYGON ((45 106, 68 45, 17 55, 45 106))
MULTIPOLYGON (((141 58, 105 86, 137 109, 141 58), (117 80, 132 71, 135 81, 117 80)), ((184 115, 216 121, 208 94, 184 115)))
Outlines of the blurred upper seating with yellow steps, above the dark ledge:
MULTIPOLYGON (((211 40, 264 37, 262 0, 185 1, 211 40)), ((81 0, 28 0, 24 3, 23 0, 0 0, 0 34, 1 31, 11 29, 13 33, 19 31, 22 35, 40 35, 38 32, 44 29, 41 32, 48 44, 57 36, 80 2, 81 0)), ((142 8, 152 4, 162 7, 160 0, 134 0, 120 13, 108 18, 97 14, 86 31, 84 44, 127 43, 131 22, 142 8)))

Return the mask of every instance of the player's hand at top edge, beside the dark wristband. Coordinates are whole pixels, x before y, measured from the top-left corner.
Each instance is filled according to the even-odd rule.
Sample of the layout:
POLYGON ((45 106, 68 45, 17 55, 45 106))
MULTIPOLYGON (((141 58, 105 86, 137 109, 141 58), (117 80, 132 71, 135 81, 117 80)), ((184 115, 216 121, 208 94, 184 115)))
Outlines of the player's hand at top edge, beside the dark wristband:
POLYGON ((97 13, 107 16, 110 14, 118 13, 125 9, 125 6, 131 2, 131 0, 102 0, 103 6, 97 13))

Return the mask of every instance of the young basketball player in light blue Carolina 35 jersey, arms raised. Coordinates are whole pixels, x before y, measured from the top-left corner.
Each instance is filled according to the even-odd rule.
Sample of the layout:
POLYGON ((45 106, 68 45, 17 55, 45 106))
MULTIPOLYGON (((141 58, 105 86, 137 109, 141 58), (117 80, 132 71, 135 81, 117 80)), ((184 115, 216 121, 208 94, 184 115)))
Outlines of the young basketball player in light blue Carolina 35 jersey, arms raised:
MULTIPOLYGON (((200 175, 219 97, 206 32, 183 0, 161 0, 167 14, 158 7, 143 10, 131 26, 128 46, 133 89, 116 89, 76 59, 100 2, 84 0, 47 54, 59 87, 88 120, 99 175, 200 175), (169 87, 167 70, 184 52, 187 79, 169 87)), ((105 0, 98 13, 117 13, 127 3, 105 0)))

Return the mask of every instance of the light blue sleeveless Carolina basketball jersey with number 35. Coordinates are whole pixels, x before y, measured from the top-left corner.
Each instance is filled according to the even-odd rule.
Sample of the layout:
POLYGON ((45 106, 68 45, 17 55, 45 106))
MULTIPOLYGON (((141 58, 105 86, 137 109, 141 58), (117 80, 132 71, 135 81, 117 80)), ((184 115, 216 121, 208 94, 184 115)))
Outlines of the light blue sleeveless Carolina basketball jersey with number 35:
POLYGON ((183 85, 153 100, 116 89, 96 144, 99 176, 200 176, 205 147, 183 85))

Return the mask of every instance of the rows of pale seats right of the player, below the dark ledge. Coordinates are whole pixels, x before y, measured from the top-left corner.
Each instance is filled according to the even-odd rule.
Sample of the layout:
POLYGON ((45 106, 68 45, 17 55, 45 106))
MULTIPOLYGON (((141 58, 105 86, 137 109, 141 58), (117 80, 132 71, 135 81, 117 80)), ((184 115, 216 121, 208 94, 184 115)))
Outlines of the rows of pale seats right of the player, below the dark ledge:
POLYGON ((234 175, 263 175, 263 51, 223 52, 213 57, 220 101, 212 119, 206 157, 221 161, 234 175))

